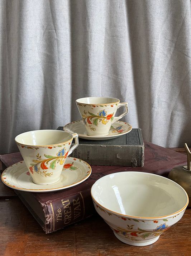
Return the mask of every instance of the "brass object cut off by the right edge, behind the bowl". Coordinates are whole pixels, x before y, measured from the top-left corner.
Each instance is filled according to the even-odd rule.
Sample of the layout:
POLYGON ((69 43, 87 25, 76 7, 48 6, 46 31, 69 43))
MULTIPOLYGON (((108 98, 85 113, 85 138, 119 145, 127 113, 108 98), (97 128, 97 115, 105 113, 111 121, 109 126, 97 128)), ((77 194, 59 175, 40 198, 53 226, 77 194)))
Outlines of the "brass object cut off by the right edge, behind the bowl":
POLYGON ((191 207, 191 152, 186 143, 184 147, 187 154, 187 166, 179 165, 174 167, 169 172, 168 179, 175 181, 186 190, 189 197, 188 207, 191 207))

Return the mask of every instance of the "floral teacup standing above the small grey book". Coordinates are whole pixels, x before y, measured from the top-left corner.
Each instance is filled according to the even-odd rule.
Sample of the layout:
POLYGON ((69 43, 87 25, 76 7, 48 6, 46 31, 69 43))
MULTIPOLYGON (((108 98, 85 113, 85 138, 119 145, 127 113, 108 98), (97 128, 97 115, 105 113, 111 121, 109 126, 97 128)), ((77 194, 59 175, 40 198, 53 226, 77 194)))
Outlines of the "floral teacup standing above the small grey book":
POLYGON ((112 123, 128 113, 128 103, 109 97, 87 97, 76 100, 87 134, 106 136, 112 123), (125 112, 115 117, 118 108, 125 106, 125 112))

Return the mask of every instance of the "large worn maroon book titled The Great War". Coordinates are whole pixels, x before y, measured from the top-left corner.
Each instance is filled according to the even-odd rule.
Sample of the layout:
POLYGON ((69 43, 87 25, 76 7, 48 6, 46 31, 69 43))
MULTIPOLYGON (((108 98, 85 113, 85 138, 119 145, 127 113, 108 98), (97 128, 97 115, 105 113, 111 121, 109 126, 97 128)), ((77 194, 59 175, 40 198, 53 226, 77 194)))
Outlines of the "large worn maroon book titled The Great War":
MULTIPOLYGON (((171 149, 144 142, 144 167, 95 166, 90 177, 83 183, 64 190, 33 193, 15 190, 29 212, 46 233, 62 229, 95 213, 91 199, 91 186, 100 177, 120 171, 149 172, 167 177, 177 165, 186 165, 187 156, 171 149)), ((5 167, 22 161, 20 153, 0 155, 5 167)))

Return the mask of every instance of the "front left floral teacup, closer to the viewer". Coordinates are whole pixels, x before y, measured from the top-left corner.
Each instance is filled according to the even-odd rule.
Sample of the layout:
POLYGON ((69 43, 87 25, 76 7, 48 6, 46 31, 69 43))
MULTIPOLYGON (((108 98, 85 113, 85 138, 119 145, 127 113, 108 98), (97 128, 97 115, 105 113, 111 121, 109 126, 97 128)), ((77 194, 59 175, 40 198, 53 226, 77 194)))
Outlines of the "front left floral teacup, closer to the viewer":
POLYGON ((78 134, 61 130, 36 130, 15 137, 32 180, 46 185, 57 182, 66 157, 78 146, 78 134), (75 144, 70 148, 73 138, 75 144))

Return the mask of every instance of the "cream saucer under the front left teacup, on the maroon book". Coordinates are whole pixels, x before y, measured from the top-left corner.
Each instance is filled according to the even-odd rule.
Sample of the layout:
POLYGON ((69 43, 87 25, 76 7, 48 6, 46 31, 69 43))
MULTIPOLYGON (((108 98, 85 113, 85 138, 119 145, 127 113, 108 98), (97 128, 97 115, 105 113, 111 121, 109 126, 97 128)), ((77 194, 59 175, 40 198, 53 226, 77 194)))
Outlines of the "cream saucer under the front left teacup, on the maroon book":
POLYGON ((50 192, 73 187, 85 181, 91 174, 88 163, 78 158, 67 157, 59 181, 49 185, 33 183, 24 161, 9 166, 1 175, 5 185, 29 192, 50 192))

